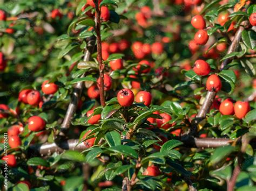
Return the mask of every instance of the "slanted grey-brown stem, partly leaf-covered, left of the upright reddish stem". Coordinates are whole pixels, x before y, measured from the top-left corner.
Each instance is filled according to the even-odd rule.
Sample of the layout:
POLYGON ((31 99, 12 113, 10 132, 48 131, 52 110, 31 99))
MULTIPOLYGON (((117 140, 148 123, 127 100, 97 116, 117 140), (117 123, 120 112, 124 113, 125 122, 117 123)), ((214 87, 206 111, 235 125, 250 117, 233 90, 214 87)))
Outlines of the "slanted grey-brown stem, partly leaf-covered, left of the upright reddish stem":
MULTIPOLYGON (((90 56, 94 46, 95 46, 95 40, 93 38, 87 39, 87 48, 84 54, 84 61, 90 60, 90 56)), ((84 77, 84 76, 85 74, 83 74, 81 77, 84 77)), ((77 104, 80 99, 83 87, 84 87, 84 82, 78 82, 74 87, 71 102, 69 104, 68 110, 66 111, 66 115, 65 115, 65 118, 63 119, 62 125, 60 126, 60 130, 63 133, 66 133, 70 128, 70 124, 71 124, 73 115, 76 112, 77 104)))

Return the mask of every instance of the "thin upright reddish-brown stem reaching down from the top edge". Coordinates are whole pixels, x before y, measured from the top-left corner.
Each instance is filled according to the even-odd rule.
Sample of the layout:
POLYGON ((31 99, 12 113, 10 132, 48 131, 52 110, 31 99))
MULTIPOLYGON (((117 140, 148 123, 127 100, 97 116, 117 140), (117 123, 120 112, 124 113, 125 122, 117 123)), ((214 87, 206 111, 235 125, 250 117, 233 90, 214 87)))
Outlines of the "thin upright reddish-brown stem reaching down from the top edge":
POLYGON ((95 1, 95 10, 96 10, 96 29, 97 34, 97 52, 98 52, 98 61, 99 61, 99 97, 100 104, 105 107, 105 94, 104 94, 104 68, 105 65, 102 59, 102 39, 100 36, 100 8, 98 0, 95 1))

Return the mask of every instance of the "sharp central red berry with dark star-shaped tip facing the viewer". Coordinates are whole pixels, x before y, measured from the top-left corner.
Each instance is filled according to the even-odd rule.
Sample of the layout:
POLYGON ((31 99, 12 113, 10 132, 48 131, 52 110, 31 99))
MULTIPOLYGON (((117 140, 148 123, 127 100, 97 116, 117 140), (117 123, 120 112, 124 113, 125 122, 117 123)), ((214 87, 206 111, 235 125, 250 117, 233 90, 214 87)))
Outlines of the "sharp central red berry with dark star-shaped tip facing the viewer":
POLYGON ((134 101, 134 94, 130 89, 122 89, 117 94, 117 101, 123 107, 129 107, 134 101))

